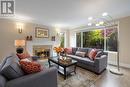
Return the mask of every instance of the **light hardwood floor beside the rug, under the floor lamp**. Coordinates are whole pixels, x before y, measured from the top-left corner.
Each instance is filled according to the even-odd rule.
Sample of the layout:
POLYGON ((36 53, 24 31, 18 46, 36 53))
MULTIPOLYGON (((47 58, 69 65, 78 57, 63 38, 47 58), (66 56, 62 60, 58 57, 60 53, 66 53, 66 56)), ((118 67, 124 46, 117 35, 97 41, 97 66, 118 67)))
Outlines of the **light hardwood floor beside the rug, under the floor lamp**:
POLYGON ((101 78, 96 81, 96 87, 130 87, 130 69, 121 68, 124 75, 119 76, 109 72, 110 68, 114 66, 108 66, 107 70, 102 73, 101 78))

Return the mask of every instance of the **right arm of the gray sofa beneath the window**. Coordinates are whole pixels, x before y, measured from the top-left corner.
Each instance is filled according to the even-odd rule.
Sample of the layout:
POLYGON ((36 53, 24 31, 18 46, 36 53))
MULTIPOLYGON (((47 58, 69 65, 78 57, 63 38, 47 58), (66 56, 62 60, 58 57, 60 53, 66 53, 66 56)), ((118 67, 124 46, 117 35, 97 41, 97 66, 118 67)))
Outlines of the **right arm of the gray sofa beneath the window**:
POLYGON ((94 61, 95 65, 95 72, 101 73, 107 67, 107 55, 102 55, 98 57, 94 61))

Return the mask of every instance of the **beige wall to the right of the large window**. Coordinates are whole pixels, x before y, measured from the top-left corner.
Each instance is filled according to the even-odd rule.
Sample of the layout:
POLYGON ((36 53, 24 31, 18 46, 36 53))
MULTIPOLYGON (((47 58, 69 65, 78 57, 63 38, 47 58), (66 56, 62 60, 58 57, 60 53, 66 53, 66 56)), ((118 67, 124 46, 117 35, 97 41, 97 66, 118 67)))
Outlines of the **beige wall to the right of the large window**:
POLYGON ((130 16, 119 20, 120 61, 130 67, 130 16))

